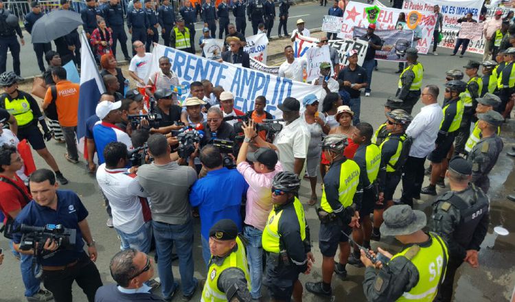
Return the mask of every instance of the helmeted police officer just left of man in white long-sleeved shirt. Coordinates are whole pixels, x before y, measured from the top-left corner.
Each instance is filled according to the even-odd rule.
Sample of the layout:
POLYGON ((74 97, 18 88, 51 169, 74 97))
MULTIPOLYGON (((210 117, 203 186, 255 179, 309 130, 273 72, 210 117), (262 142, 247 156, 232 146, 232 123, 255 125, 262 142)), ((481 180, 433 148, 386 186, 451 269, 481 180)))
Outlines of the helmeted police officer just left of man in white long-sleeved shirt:
POLYGON ((407 139, 406 129, 413 117, 402 109, 396 109, 386 114, 387 131, 389 135, 379 148, 381 150, 381 163, 378 174, 378 201, 374 207, 374 227, 371 240, 380 241, 380 226, 385 207, 393 205, 393 194, 402 176, 402 165, 408 159, 409 152, 404 150, 404 141, 407 139), (404 152, 403 152, 404 150, 404 152))

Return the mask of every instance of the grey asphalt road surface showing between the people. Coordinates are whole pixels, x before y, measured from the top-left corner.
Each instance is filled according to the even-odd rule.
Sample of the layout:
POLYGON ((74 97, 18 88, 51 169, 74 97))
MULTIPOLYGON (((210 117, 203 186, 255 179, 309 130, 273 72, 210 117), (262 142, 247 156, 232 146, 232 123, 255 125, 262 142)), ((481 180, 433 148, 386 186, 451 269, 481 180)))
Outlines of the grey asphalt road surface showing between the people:
MULTIPOLYGON (((318 16, 302 16, 306 21, 308 28, 317 27, 320 24, 320 16, 325 13, 325 9, 318 5, 306 5, 293 8, 291 16, 303 14, 296 10, 304 12, 317 11, 318 16), (296 12, 293 14, 293 12, 296 12), (310 19, 308 19, 310 18, 310 19), (312 20, 312 21, 310 21, 312 20), (315 21, 317 20, 317 21, 315 21)), ((293 19, 297 19, 294 17, 293 19)), ((288 42, 285 42, 288 43, 288 42)), ((26 49, 26 47, 25 47, 26 49)), ((440 91, 443 92, 444 72, 448 69, 463 69, 466 62, 470 59, 480 60, 479 55, 466 54, 464 58, 450 57, 450 51, 439 49, 439 56, 421 56, 420 62, 424 66, 424 85, 437 84, 440 91)), ((32 56, 32 53, 30 54, 32 56)), ((32 57, 29 57, 32 58, 32 57)), ((277 62, 280 60, 277 59, 277 62)), ((272 64, 272 63, 271 63, 272 64)), ((27 65, 25 63, 25 65, 27 65)), ((371 97, 362 95, 361 120, 368 121, 372 126, 377 127, 385 120, 382 104, 385 103, 389 95, 395 94, 398 74, 394 72, 397 69, 397 63, 380 61, 378 71, 374 71, 374 81, 372 84, 371 97)), ((442 104, 442 95, 439 102, 442 104)), ((418 113, 420 110, 420 102, 413 110, 418 113)), ((515 121, 509 121, 501 130, 501 137, 505 143, 505 151, 515 146, 515 121)), ((106 227, 106 213, 103 206, 103 200, 98 191, 98 185, 95 178, 84 169, 85 162, 80 161, 79 164, 73 165, 65 161, 63 154, 65 146, 53 141, 48 143, 49 150, 54 154, 60 165, 62 172, 69 178, 70 183, 62 186, 65 189, 71 189, 79 194, 82 202, 89 211, 89 224, 93 237, 98 246, 98 261, 96 265, 100 270, 102 281, 104 283, 112 283, 113 280, 109 274, 108 263, 111 257, 119 251, 119 241, 113 229, 106 227)), ((47 167, 47 165, 34 155, 37 167, 47 167)), ((455 299, 454 301, 507 301, 510 299, 512 290, 515 285, 515 203, 505 198, 506 194, 512 194, 515 184, 515 173, 513 172, 514 160, 506 156, 505 152, 499 157, 497 165, 490 173, 492 187, 489 192, 491 199, 490 207, 490 226, 488 235, 481 246, 479 252, 480 266, 472 269, 468 265, 462 266, 455 278, 455 299), (496 235, 492 229, 498 225, 502 225, 508 231, 512 232, 507 236, 496 235)), ((425 179, 427 182, 427 178, 425 179)), ((424 184, 425 185, 425 184, 424 184)), ((300 191, 300 200, 304 203, 306 210, 306 218, 311 229, 311 240, 316 262, 310 275, 301 275, 302 283, 306 281, 319 281, 321 279, 321 254, 318 248, 318 232, 319 220, 317 219, 314 207, 306 205, 309 199, 309 183, 302 182, 300 191)), ((398 187, 395 197, 400 196, 401 186, 398 187)), ((437 189, 442 194, 446 189, 437 189)), ((320 197, 320 189, 317 188, 320 197)), ((227 192, 230 194, 230 192, 227 192)), ((422 200, 417 200, 415 208, 424 211, 428 218, 431 215, 431 204, 435 200, 433 196, 422 196, 422 200)), ((429 220, 429 219, 428 219, 429 220)), ((205 265, 201 257, 201 242, 199 229, 200 222, 194 220, 195 224, 195 242, 194 242, 194 261, 195 261, 195 277, 198 279, 205 278, 205 265)), ((373 248, 381 246, 395 253, 399 250, 399 245, 392 238, 384 238, 381 242, 372 242, 373 248)), ((0 248, 3 248, 5 259, 3 265, 0 266, 0 301, 24 301, 23 299, 23 283, 19 271, 19 262, 9 253, 8 241, 0 236, 0 248)), ((179 277, 177 263, 174 262, 172 268, 174 276, 179 277)), ((349 275, 347 279, 341 280, 334 277, 332 280, 332 288, 335 299, 332 301, 365 301, 363 295, 363 268, 347 267, 349 275)), ((156 271, 157 276, 157 271, 156 271)), ((266 288, 263 288, 266 297, 266 288)), ((73 287, 73 301, 87 301, 82 290, 78 286, 73 287)), ((178 295, 180 297, 180 294, 178 295)), ((180 298, 174 299, 179 301, 180 298)), ((200 290, 192 301, 200 300, 200 290)), ((313 294, 304 292, 304 301, 329 301, 329 299, 321 299, 313 294)))

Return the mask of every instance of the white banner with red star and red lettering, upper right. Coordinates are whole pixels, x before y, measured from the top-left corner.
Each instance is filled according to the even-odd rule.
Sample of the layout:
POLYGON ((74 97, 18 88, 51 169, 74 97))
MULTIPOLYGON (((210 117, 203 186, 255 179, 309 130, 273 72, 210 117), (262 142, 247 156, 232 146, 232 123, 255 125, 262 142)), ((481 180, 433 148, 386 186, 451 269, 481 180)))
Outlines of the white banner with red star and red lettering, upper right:
MULTIPOLYGON (((420 54, 427 54, 431 40, 433 39, 433 30, 435 29, 436 16, 428 12, 416 12, 416 10, 398 10, 396 8, 387 8, 378 1, 374 2, 380 8, 376 19, 377 30, 394 30, 399 19, 399 14, 404 12, 406 16, 412 16, 409 22, 410 26, 418 27, 421 32, 421 38, 417 41, 416 48, 420 54), (417 19, 415 19, 415 16, 417 19)), ((339 38, 352 38, 354 27, 368 27, 366 9, 372 7, 365 3, 350 1, 343 14, 343 25, 339 38)))

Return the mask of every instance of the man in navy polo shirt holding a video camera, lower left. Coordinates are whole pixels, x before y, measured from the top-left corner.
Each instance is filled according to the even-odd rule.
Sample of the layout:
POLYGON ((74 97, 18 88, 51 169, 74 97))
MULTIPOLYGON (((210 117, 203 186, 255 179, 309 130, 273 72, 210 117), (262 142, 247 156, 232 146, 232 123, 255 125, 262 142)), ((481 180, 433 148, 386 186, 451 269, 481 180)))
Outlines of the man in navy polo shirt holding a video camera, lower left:
MULTIPOLYGON (((46 224, 62 224, 67 229, 76 230, 76 241, 67 249, 55 240, 47 239, 43 246, 45 257, 38 256, 43 266, 43 283, 54 294, 54 301, 72 301, 71 285, 77 281, 87 295, 88 301, 95 299, 100 286, 100 273, 93 262, 97 259, 95 240, 87 221, 88 211, 73 191, 58 190, 54 172, 47 169, 36 170, 30 176, 30 192, 34 200, 18 214, 15 225, 28 224, 44 227, 46 224), (87 251, 84 253, 84 241, 87 251), (74 243, 74 245, 73 245, 74 243)), ((33 255, 34 249, 21 251, 21 233, 13 234, 14 248, 19 253, 33 255)), ((41 246, 36 246, 40 249, 41 246)))

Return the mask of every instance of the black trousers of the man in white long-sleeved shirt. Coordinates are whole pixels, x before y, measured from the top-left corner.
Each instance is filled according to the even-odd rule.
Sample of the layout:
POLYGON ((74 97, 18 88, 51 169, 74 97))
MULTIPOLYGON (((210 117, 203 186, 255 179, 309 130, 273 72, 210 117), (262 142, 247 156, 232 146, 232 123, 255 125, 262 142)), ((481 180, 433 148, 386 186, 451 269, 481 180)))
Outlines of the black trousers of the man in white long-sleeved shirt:
POLYGON ((424 163, 426 158, 408 156, 402 168, 402 197, 404 205, 413 207, 413 195, 420 194, 424 183, 424 163))

